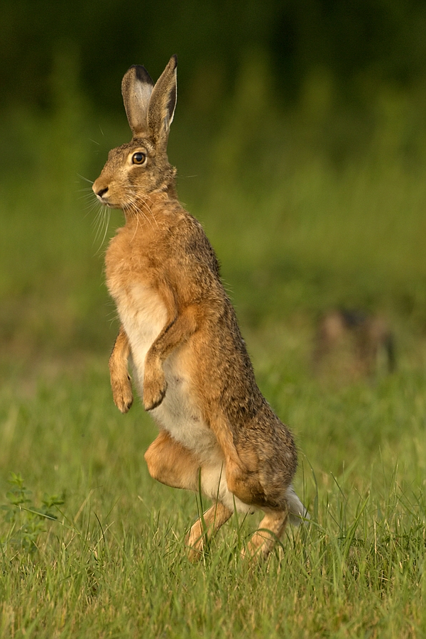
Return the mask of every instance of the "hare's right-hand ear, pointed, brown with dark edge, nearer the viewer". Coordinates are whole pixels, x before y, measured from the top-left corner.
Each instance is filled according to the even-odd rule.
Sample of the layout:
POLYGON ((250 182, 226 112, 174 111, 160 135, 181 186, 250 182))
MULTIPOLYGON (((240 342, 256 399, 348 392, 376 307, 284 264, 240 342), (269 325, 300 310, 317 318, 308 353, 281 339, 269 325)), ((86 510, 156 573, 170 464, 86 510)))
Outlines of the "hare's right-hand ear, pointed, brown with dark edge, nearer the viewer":
POLYGON ((176 67, 178 58, 172 55, 167 67, 158 78, 148 105, 148 129, 158 143, 167 143, 170 124, 175 114, 177 99, 176 67))

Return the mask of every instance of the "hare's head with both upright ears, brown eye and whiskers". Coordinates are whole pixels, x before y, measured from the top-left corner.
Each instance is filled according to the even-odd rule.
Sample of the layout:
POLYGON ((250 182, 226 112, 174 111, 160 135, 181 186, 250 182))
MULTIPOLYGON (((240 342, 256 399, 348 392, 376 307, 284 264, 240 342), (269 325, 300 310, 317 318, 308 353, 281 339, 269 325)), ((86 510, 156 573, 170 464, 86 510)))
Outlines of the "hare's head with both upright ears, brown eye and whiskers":
POLYGON ((155 86, 145 67, 134 65, 121 82, 133 138, 109 151, 93 191, 102 204, 137 209, 137 202, 158 190, 174 190, 175 169, 167 157, 167 141, 176 106, 176 67, 170 58, 155 86))

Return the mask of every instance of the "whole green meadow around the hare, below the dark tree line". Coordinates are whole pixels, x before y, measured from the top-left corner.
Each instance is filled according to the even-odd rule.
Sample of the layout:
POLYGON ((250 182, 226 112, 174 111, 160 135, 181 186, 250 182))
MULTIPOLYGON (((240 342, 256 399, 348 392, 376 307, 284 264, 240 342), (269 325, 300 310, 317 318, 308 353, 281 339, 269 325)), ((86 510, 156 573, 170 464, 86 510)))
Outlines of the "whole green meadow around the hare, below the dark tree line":
POLYGON ((317 80, 297 117, 268 111, 258 138, 246 131, 268 99, 238 98, 253 93, 248 73, 204 148, 176 116, 181 200, 217 249, 259 386, 295 434, 312 518, 257 566, 239 550, 260 515, 235 516, 191 564, 200 496, 148 476, 155 427, 138 400, 119 414, 109 390, 117 322, 102 260, 121 215, 107 226, 87 180, 129 132, 61 77, 53 119, 23 111, 1 129, 0 636, 426 637, 417 111, 383 94, 375 136, 350 157, 324 152, 332 116, 314 123, 316 142, 309 129, 317 80), (336 307, 387 318, 395 372, 315 375, 317 320, 336 307))

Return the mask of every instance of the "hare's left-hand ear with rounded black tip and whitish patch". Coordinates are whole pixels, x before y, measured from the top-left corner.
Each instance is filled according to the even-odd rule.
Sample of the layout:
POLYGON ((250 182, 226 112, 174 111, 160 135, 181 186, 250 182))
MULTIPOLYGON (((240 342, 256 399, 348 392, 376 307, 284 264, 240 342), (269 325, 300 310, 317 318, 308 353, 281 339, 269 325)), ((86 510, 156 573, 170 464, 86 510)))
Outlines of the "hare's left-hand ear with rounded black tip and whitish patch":
POLYGON ((124 108, 133 138, 139 138, 148 131, 148 104, 154 83, 145 67, 133 65, 121 82, 124 108))

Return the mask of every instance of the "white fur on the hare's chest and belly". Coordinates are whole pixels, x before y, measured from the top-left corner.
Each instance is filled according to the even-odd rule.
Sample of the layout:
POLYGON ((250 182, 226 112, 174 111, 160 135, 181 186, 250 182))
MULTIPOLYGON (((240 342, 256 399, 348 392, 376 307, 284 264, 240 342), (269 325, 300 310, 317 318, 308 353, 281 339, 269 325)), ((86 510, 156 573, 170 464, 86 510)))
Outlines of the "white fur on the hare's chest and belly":
MULTIPOLYGON (((138 392, 143 396, 143 372, 148 350, 167 321, 163 300, 152 288, 133 284, 126 294, 116 298, 117 309, 131 346, 131 359, 138 392)), ((190 393, 190 379, 184 366, 184 346, 178 347, 163 364, 167 392, 162 403, 151 410, 160 427, 187 449, 200 457, 201 486, 203 493, 217 498, 224 506, 241 513, 252 512, 234 496, 226 484, 224 458, 217 439, 202 420, 200 410, 190 393)))

